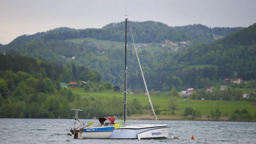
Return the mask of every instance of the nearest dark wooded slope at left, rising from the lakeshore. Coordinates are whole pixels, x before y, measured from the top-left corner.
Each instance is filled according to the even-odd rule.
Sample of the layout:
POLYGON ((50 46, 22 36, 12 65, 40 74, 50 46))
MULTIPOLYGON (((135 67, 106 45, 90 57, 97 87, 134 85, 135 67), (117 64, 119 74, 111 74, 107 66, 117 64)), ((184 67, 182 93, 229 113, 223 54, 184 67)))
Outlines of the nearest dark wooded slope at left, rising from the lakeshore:
MULTIPOLYGON (((73 118, 70 108, 83 109, 85 118, 94 102, 94 115, 113 114, 119 98, 96 99, 60 88, 59 82, 87 81, 98 88, 100 77, 84 66, 56 65, 54 61, 0 53, 0 118, 73 118), (90 81, 90 82, 89 82, 90 81)), ((78 83, 80 84, 80 83, 78 83)), ((100 90, 99 90, 100 91, 100 90)), ((137 105, 132 106, 135 109, 137 105)), ((141 110, 140 110, 141 111, 141 110)), ((140 111, 132 111, 141 114, 140 111)))

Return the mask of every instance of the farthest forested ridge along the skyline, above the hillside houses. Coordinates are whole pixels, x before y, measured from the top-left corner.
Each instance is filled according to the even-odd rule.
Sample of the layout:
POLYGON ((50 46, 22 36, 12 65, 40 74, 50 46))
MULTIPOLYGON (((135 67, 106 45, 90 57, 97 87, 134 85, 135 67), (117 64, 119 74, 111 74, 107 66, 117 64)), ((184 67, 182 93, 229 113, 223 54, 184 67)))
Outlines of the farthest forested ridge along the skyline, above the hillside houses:
MULTIPOLYGON (((199 41, 201 43, 211 43, 214 41, 214 36, 227 36, 232 32, 242 29, 242 27, 236 28, 209 28, 201 24, 169 27, 168 25, 155 22, 133 22, 130 21, 133 36, 136 43, 161 43, 165 39, 169 39, 173 42, 179 42, 183 40, 199 41)), ((36 33, 34 35, 22 35, 14 39, 8 47, 24 45, 36 38, 43 38, 45 41, 50 40, 65 40, 70 38, 90 37, 98 40, 110 40, 123 42, 124 37, 124 22, 110 23, 103 28, 86 28, 86 29, 74 29, 74 28, 55 28, 47 32, 36 33)), ((128 39, 131 39, 130 33, 128 33, 128 39)))

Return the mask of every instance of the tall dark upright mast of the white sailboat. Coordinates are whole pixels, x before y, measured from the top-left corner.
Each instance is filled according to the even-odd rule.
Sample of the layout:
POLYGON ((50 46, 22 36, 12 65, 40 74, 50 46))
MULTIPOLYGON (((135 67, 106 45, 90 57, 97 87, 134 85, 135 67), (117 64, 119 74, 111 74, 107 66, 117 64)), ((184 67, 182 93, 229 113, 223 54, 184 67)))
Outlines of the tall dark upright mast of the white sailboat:
POLYGON ((124 125, 126 125, 126 39, 127 39, 127 20, 125 19, 125 40, 124 40, 124 125))

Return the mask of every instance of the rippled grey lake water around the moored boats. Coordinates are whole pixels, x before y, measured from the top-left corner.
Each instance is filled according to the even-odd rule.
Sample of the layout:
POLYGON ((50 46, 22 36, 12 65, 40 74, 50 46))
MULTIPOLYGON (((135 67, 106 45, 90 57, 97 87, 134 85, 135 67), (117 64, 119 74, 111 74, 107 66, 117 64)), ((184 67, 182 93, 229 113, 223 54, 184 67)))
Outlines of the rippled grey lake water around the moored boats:
MULTIPOLYGON (((73 119, 0 119, 0 143, 256 143, 256 123, 253 122, 164 121, 164 124, 172 126, 171 135, 179 138, 164 140, 73 139, 73 135, 67 135, 73 122, 73 119), (191 140, 192 135, 194 140, 191 140)), ((98 120, 84 122, 98 123, 98 120)), ((153 124, 153 122, 127 121, 128 124, 153 124)))

